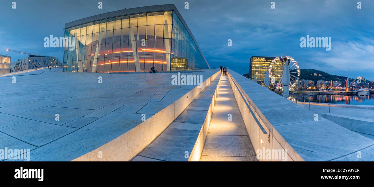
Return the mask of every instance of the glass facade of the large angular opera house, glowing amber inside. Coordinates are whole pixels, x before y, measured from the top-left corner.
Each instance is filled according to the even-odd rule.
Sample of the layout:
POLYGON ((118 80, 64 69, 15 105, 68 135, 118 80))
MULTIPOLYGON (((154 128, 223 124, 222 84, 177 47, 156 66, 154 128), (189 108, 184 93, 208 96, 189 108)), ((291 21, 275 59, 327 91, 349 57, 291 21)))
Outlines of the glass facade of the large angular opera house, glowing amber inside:
POLYGON ((64 72, 179 71, 209 68, 174 11, 101 19, 65 29, 64 72))

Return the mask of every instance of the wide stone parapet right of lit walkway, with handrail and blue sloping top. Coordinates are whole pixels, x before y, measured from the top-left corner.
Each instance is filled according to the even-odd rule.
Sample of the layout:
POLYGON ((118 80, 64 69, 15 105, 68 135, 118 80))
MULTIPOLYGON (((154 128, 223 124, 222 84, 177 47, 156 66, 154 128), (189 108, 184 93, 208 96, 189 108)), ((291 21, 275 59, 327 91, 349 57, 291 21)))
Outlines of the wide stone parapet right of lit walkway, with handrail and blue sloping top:
POLYGON ((287 161, 374 160, 373 140, 321 116, 316 118, 316 113, 231 69, 228 72, 255 151, 270 153, 260 161, 283 160, 272 156, 282 150, 287 152, 287 161))

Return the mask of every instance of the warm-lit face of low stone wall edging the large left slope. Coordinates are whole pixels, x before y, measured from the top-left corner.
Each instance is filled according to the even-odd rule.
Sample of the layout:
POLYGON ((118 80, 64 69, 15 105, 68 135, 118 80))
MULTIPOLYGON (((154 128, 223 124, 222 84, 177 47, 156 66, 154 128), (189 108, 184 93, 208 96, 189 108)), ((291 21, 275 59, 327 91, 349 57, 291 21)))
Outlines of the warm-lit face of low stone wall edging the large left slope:
MULTIPOLYGON (((129 161, 159 136, 221 72, 217 71, 202 82, 202 87, 194 87, 171 105, 165 107, 141 124, 98 147, 97 149, 71 161, 129 161), (98 158, 98 152, 105 152, 98 158)), ((209 121, 210 122, 210 121, 209 121)), ((208 123, 209 124, 209 123, 208 123)), ((206 130, 207 132, 208 130, 206 130)), ((205 141, 205 139, 204 139, 205 141)), ((198 152, 198 151, 196 151, 198 152)), ((201 154, 200 154, 201 155, 201 154)), ((192 156, 191 156, 192 157, 192 156)))

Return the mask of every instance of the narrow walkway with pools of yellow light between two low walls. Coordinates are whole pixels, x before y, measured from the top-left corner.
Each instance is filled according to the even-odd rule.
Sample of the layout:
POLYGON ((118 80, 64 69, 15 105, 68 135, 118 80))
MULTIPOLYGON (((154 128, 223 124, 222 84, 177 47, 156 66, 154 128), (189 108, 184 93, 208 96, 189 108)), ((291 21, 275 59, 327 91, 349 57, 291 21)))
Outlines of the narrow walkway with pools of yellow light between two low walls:
POLYGON ((230 82, 222 76, 200 161, 257 161, 230 82))

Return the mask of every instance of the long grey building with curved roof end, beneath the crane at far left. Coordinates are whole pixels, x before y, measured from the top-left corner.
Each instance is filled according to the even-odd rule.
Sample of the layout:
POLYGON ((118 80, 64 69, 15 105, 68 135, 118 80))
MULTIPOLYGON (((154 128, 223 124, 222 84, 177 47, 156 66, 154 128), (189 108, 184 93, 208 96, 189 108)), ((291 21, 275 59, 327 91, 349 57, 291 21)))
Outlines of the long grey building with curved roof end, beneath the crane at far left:
POLYGON ((27 69, 42 68, 46 66, 62 66, 62 62, 54 56, 29 55, 10 64, 10 72, 24 71, 27 69))

